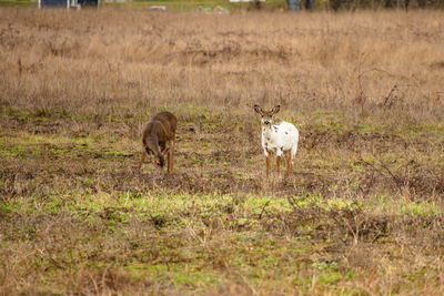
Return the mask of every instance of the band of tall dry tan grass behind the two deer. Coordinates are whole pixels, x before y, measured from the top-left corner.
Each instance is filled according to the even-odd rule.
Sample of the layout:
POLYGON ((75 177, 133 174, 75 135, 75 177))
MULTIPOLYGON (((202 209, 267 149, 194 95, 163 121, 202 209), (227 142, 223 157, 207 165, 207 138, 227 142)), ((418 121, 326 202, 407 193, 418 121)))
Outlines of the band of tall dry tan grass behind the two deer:
POLYGON ((294 115, 444 114, 442 12, 0 13, 3 104, 102 114, 135 102, 245 111, 279 101, 294 115))

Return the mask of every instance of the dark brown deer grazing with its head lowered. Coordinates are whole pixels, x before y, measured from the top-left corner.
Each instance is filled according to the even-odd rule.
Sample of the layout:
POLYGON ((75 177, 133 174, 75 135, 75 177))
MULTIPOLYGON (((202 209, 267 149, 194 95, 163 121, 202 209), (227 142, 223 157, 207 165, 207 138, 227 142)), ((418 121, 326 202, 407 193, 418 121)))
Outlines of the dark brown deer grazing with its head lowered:
POLYGON ((168 111, 159 112, 147 123, 142 135, 144 151, 142 151, 139 170, 147 154, 153 154, 155 163, 163 170, 165 164, 163 154, 168 153, 168 173, 173 172, 176 123, 175 116, 168 111))

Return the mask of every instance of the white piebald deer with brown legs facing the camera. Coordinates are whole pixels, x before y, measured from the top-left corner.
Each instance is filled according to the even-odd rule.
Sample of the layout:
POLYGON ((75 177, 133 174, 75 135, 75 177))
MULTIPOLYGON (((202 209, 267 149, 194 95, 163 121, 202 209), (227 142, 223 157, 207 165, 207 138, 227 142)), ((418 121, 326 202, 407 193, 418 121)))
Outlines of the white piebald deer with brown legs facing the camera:
POLYGON ((299 131, 290 122, 281 121, 273 124, 273 115, 279 112, 280 105, 272 111, 263 111, 259 105, 254 105, 254 111, 262 116, 262 149, 266 157, 266 176, 270 172, 270 160, 272 154, 276 154, 278 176, 282 154, 286 160, 286 176, 293 172, 293 159, 297 152, 299 131))

